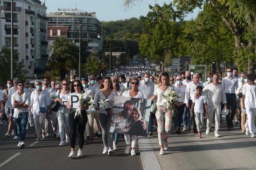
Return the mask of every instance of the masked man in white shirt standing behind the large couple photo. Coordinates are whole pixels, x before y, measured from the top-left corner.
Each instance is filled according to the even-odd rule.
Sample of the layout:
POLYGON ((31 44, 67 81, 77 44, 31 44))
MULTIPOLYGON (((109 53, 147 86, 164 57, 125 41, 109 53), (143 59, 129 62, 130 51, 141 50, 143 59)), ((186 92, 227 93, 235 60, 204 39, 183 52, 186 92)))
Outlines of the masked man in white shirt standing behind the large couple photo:
MULTIPOLYGON (((153 96, 154 88, 155 88, 155 84, 152 81, 150 81, 149 78, 150 78, 149 73, 147 72, 144 73, 144 80, 141 80, 139 82, 139 87, 138 87, 138 90, 143 93, 146 99, 149 99, 150 97, 153 96)), ((153 135, 153 122, 154 122, 154 119, 152 117, 149 117, 149 128, 148 128, 149 136, 153 135)))

